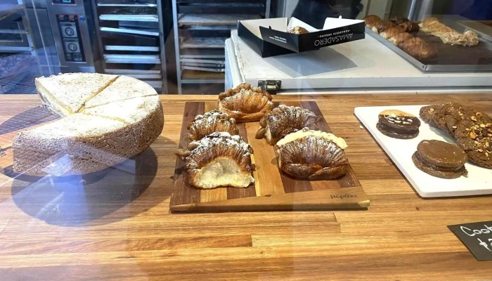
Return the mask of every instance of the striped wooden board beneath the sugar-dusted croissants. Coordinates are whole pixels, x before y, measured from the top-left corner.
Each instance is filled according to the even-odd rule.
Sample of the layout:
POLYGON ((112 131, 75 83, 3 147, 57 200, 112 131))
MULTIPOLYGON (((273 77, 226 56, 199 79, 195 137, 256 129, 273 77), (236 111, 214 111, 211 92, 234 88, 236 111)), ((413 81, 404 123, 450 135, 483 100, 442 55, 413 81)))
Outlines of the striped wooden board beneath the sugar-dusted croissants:
MULTIPOLYGON (((316 115, 321 111, 313 101, 286 102, 285 105, 307 108, 316 115)), ((179 148, 188 145, 186 124, 196 115, 215 109, 216 103, 189 102, 185 105, 179 148)), ((321 130, 331 132, 322 118, 318 123, 321 130)), ((366 209, 368 197, 350 167, 349 173, 334 181, 304 181, 280 173, 272 145, 254 135, 258 122, 238 124, 240 136, 253 148, 252 162, 257 169, 253 172, 254 184, 247 188, 214 188, 200 190, 186 181, 184 162, 176 160, 174 186, 170 209, 173 212, 217 212, 217 211, 280 211, 280 210, 332 210, 366 209)), ((350 143, 349 143, 350 145, 350 143)))

